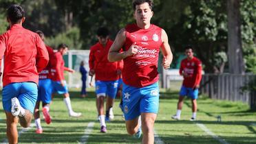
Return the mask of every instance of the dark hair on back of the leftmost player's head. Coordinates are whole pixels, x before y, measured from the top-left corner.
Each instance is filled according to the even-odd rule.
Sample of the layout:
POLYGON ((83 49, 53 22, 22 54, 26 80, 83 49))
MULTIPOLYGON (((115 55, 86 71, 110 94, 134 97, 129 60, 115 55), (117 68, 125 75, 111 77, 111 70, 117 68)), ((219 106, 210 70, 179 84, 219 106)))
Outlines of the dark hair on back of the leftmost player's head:
POLYGON ((7 9, 7 17, 12 23, 20 23, 25 16, 25 11, 19 5, 10 5, 7 9))

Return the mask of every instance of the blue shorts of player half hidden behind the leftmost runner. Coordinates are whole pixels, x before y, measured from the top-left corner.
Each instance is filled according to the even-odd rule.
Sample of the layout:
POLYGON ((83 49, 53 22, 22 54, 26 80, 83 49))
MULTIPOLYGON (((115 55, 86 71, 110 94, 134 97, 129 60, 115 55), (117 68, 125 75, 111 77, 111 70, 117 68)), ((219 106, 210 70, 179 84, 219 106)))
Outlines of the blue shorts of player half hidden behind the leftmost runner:
POLYGON ((52 101, 52 80, 39 80, 39 97, 37 97, 37 101, 43 101, 45 104, 50 104, 52 101))

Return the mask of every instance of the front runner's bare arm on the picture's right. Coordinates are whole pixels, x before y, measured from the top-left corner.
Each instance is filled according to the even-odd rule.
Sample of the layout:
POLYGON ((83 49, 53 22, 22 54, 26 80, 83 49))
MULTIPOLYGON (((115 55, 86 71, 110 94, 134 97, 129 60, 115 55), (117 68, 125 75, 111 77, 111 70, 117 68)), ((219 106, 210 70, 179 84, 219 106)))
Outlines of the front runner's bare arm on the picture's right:
POLYGON ((171 53, 171 47, 168 42, 167 33, 162 29, 162 54, 164 56, 162 66, 164 69, 169 69, 171 62, 173 61, 173 53, 171 53))

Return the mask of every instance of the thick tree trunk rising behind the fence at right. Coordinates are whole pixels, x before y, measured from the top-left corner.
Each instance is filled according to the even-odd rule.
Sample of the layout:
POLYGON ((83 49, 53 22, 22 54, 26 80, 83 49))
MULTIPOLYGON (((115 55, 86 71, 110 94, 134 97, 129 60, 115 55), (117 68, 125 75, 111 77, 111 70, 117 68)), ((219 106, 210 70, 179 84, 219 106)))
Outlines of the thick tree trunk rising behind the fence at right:
POLYGON ((244 73, 240 23, 240 0, 228 0, 228 67, 230 73, 244 73))

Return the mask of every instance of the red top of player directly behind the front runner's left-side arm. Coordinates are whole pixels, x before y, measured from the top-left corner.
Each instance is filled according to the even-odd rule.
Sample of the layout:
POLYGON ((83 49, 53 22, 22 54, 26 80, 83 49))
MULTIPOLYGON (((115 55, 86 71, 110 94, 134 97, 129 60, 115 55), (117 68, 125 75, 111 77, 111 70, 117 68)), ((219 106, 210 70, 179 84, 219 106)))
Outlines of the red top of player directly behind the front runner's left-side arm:
POLYGON ((118 69, 122 69, 119 62, 109 62, 107 55, 113 44, 112 40, 107 40, 105 47, 100 43, 96 43, 89 51, 89 69, 95 71, 95 80, 112 81, 118 80, 118 69))

